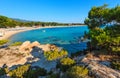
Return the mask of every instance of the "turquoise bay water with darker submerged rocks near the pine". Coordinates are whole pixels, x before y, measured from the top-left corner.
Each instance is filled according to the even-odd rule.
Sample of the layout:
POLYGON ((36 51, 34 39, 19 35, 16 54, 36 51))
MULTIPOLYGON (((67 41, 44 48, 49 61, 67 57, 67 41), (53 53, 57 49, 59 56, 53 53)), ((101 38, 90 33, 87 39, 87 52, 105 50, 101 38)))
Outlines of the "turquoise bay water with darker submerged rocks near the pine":
POLYGON ((31 42, 38 41, 40 44, 50 43, 63 47, 71 53, 86 48, 86 42, 80 41, 85 31, 88 31, 87 26, 42 28, 13 35, 10 41, 29 40, 31 42))

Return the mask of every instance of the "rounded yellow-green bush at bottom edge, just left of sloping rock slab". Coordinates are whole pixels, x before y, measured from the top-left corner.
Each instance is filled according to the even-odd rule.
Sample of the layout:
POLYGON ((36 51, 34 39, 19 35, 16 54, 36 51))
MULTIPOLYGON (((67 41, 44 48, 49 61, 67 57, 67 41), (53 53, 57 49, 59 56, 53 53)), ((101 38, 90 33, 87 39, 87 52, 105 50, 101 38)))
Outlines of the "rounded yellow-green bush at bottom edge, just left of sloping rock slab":
POLYGON ((82 66, 73 66, 66 72, 67 78, 86 78, 88 69, 82 66))

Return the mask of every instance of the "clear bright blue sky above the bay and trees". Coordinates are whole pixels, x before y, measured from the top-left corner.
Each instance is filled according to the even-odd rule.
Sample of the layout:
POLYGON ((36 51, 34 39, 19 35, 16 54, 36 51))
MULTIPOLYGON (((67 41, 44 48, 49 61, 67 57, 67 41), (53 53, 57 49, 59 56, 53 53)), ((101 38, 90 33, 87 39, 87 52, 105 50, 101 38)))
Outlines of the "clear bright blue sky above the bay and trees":
POLYGON ((120 5, 120 0, 0 0, 0 15, 31 21, 83 23, 93 6, 120 5))

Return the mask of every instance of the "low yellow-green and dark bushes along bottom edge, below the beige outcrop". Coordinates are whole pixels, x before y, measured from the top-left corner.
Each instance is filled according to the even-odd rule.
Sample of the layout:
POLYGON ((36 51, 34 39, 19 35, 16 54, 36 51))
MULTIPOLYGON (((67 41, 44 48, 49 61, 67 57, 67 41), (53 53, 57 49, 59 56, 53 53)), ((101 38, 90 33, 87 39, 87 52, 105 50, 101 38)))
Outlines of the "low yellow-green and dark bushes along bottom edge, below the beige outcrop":
POLYGON ((8 74, 12 78, 38 78, 39 76, 45 76, 47 71, 39 67, 32 69, 30 64, 27 64, 9 71, 8 74))

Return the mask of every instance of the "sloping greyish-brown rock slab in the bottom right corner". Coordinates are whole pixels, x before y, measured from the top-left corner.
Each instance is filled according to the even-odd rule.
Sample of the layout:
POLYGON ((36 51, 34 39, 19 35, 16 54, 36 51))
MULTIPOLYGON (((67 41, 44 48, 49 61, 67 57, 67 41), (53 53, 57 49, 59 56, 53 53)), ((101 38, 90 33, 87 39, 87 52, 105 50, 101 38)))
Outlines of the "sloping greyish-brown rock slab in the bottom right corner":
POLYGON ((96 61, 89 60, 85 57, 82 59, 82 62, 90 70, 90 75, 94 78, 120 78, 119 71, 115 71, 105 65, 101 65, 96 61))

